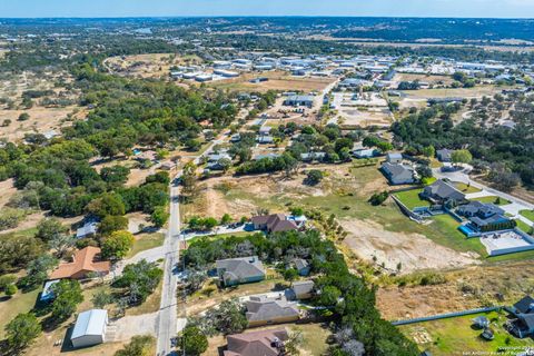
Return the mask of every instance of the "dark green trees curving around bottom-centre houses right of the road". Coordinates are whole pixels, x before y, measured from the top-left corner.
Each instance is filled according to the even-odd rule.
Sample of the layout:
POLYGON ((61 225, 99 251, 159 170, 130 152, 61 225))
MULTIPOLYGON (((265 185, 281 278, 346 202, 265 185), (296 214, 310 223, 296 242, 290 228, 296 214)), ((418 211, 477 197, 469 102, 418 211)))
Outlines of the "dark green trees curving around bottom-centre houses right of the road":
MULTIPOLYGON (((316 230, 306 233, 289 231, 263 234, 227 239, 199 239, 185 251, 187 266, 209 268, 221 258, 257 255, 265 263, 296 257, 310 261, 312 273, 316 274, 316 286, 322 291, 313 299, 317 306, 327 307, 337 316, 338 328, 352 330, 352 340, 357 340, 368 355, 417 355, 417 347, 390 323, 380 318, 375 306, 375 288, 362 278, 352 275, 342 254, 330 240, 325 240, 316 230)), ((191 325, 202 334, 238 333, 244 327, 244 315, 231 300, 224 308, 212 309, 209 318, 192 319, 191 325), (224 317, 220 315, 222 314, 224 317)), ((347 340, 348 343, 348 340, 347 340)), ((334 352, 347 348, 345 342, 333 346, 334 352)))

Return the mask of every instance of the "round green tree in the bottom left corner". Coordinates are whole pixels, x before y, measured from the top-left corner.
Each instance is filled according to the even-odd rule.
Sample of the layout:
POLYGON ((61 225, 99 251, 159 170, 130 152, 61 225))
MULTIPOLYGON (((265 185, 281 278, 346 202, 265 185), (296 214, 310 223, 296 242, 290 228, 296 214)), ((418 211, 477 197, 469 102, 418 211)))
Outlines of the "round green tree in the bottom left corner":
POLYGON ((6 326, 8 345, 16 352, 28 347, 41 332, 41 325, 32 313, 19 314, 6 326))

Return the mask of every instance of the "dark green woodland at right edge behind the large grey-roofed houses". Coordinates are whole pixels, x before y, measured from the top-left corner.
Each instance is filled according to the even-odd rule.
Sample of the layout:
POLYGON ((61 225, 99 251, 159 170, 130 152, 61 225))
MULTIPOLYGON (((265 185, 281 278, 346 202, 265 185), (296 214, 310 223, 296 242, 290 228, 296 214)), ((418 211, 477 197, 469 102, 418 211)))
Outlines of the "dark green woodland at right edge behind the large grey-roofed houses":
POLYGON ((534 184, 534 125, 532 99, 518 98, 511 117, 513 128, 498 123, 481 125, 476 119, 466 119, 458 125, 452 115, 461 105, 434 105, 412 112, 392 126, 395 140, 406 150, 423 154, 426 147, 455 150, 453 161, 472 162, 487 172, 487 178, 497 188, 510 190, 521 182, 534 184), (520 180, 521 179, 521 180, 520 180), (506 184, 501 184, 505 181, 506 184))

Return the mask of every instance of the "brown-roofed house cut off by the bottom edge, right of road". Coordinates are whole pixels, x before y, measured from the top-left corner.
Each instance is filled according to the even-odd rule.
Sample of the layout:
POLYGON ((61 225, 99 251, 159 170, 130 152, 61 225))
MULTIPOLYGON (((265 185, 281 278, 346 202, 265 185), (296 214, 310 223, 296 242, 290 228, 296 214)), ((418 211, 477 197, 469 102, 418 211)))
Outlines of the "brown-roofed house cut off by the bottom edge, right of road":
POLYGON ((284 328, 228 335, 224 356, 280 356, 289 334, 284 328))

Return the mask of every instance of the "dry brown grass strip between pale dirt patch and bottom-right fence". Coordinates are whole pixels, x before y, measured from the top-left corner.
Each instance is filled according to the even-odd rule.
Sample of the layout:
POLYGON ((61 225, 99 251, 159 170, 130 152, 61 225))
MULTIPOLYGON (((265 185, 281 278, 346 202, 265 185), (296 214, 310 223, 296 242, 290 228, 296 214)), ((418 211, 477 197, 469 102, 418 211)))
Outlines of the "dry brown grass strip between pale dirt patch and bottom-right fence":
POLYGON ((511 305, 532 293, 531 261, 473 266, 445 274, 447 281, 435 286, 388 287, 377 293, 377 305, 386 319, 421 317, 492 305, 511 305), (496 294, 503 299, 497 300, 496 294))

